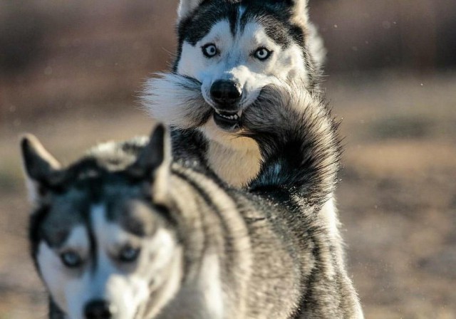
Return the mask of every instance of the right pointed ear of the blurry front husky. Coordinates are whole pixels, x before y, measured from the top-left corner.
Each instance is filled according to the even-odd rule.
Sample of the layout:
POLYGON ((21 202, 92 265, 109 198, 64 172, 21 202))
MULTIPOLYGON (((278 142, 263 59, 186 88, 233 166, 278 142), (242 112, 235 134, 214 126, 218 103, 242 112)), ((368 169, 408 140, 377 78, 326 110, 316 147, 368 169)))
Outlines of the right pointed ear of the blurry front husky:
POLYGON ((152 130, 150 140, 143 147, 136 162, 128 167, 130 175, 152 179, 152 198, 165 204, 170 179, 171 137, 164 125, 152 130))

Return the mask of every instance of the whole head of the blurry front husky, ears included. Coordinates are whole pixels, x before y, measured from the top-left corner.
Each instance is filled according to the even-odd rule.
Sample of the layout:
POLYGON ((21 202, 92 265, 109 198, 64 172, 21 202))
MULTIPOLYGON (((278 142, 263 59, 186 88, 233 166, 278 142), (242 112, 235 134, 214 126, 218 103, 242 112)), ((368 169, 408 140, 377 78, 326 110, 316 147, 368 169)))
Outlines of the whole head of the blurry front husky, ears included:
POLYGON ((178 290, 182 252, 162 204, 164 132, 158 127, 143 147, 104 145, 68 168, 24 137, 32 254, 66 318, 149 318, 178 290))

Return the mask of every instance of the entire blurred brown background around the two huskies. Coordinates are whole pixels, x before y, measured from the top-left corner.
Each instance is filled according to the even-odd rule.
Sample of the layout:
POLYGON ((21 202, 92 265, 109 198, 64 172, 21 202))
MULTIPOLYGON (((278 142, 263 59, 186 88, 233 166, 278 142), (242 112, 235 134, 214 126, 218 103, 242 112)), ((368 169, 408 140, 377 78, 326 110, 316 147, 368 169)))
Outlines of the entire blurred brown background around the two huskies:
MULTIPOLYGON (((19 135, 63 162, 147 134, 170 0, 0 0, 0 319, 46 318, 19 135)), ((338 207, 366 318, 456 318, 456 1, 310 0, 345 153, 338 207)))

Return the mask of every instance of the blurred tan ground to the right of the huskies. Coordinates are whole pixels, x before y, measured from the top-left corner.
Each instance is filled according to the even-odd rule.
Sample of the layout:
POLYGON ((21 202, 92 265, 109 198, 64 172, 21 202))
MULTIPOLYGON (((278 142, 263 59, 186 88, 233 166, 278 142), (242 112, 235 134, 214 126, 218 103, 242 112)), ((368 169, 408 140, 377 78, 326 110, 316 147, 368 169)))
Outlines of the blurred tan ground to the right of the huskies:
POLYGON ((334 82, 339 208, 366 318, 456 318, 456 78, 334 82))

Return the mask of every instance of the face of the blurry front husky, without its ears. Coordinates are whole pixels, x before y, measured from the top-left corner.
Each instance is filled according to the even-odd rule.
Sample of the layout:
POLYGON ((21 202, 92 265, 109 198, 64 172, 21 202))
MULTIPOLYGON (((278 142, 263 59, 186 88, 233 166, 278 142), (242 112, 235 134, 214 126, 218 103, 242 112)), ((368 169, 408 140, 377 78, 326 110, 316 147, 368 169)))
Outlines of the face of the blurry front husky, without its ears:
POLYGON ((142 318, 152 296, 160 301, 179 278, 172 233, 138 199, 83 209, 59 200, 65 204, 50 207, 36 253, 53 300, 69 318, 142 318))

